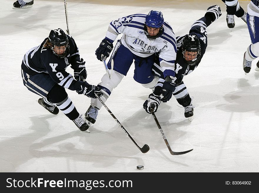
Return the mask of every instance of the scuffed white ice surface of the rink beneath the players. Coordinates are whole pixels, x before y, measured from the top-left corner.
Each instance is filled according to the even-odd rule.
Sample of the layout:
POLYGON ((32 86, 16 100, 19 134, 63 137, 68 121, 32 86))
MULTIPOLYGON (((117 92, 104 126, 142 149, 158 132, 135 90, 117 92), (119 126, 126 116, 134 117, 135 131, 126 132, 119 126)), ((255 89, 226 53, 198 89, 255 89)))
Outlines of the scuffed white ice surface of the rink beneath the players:
MULTIPOLYGON (((247 11, 249 1, 240 1, 247 11)), ((173 156, 153 119, 142 108, 151 93, 133 79, 134 65, 112 91, 107 107, 142 147, 132 143, 105 108, 97 122, 81 132, 64 114, 52 115, 28 91, 21 77, 23 55, 38 46, 51 29, 67 29, 64 1, 35 0, 32 8, 0 7, 0 172, 259 172, 259 72, 253 61, 245 75, 243 54, 250 45, 247 25, 235 17, 235 28, 226 24, 222 1, 103 1, 67 0, 70 35, 87 64, 87 81, 97 85, 105 73, 95 50, 109 22, 130 14, 162 11, 175 34, 188 34, 207 7, 218 4, 222 16, 207 28, 208 46, 201 63, 185 85, 193 96, 194 119, 184 117, 173 97, 162 103, 157 119, 173 151, 193 149, 173 156), (143 165, 144 170, 137 170, 143 165)), ((70 67, 67 71, 73 74, 70 67)), ((67 89, 79 113, 90 98, 67 89)))

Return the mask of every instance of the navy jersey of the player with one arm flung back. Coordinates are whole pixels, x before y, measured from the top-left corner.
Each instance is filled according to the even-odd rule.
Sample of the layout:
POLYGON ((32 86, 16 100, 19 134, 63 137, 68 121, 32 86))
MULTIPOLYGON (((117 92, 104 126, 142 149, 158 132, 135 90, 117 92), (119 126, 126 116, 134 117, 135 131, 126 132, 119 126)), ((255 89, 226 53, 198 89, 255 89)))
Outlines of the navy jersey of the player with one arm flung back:
POLYGON ((202 56, 205 54, 207 48, 207 26, 204 22, 204 19, 205 17, 195 21, 189 31, 190 35, 195 34, 200 40, 201 56, 200 59, 195 63, 195 65, 188 65, 182 55, 182 41, 185 35, 176 37, 177 55, 175 60, 175 83, 179 83, 182 80, 183 76, 190 74, 200 64, 202 56))

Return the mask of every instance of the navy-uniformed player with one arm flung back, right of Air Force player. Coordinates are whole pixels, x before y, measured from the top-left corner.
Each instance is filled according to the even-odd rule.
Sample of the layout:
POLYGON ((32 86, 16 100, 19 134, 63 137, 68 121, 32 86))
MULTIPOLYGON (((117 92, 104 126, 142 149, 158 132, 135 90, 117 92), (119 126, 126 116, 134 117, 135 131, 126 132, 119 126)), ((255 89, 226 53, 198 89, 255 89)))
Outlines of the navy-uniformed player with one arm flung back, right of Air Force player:
POLYGON ((205 16, 192 24, 189 34, 176 37, 175 74, 172 77, 170 76, 171 81, 168 81, 167 77, 164 78, 161 71, 159 72, 159 60, 156 62, 158 65, 154 64, 154 72, 161 74, 161 76, 154 92, 149 95, 149 98, 143 104, 143 108, 147 113, 151 113, 151 109, 156 112, 161 101, 167 102, 174 95, 177 102, 185 108, 185 117, 192 121, 192 99, 182 79, 199 65, 207 47, 207 26, 220 16, 220 7, 218 5, 210 6, 205 16))

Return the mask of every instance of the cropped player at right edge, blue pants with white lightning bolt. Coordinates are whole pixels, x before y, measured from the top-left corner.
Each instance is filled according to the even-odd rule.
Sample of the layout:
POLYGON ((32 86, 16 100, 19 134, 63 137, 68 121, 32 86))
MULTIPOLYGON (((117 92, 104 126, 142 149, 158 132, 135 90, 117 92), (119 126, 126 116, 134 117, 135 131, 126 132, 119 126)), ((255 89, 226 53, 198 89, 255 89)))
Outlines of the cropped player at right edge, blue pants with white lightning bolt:
MULTIPOLYGON (((259 57, 259 1, 251 0, 247 6, 247 26, 252 44, 244 53, 243 69, 245 74, 249 73, 252 61, 259 57)), ((259 62, 256 64, 259 71, 259 62)))

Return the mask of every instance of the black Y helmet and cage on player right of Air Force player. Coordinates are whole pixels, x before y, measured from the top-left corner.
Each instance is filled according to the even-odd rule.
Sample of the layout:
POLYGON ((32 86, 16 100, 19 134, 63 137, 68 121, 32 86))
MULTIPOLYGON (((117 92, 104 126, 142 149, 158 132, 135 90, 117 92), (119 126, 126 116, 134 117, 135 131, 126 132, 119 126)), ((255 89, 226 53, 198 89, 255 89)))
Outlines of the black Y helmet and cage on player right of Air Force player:
POLYGON ((200 52, 199 38, 195 34, 186 34, 182 41, 182 55, 187 64, 195 65, 200 59, 200 52), (190 55, 185 54, 185 51, 188 51, 190 55))

